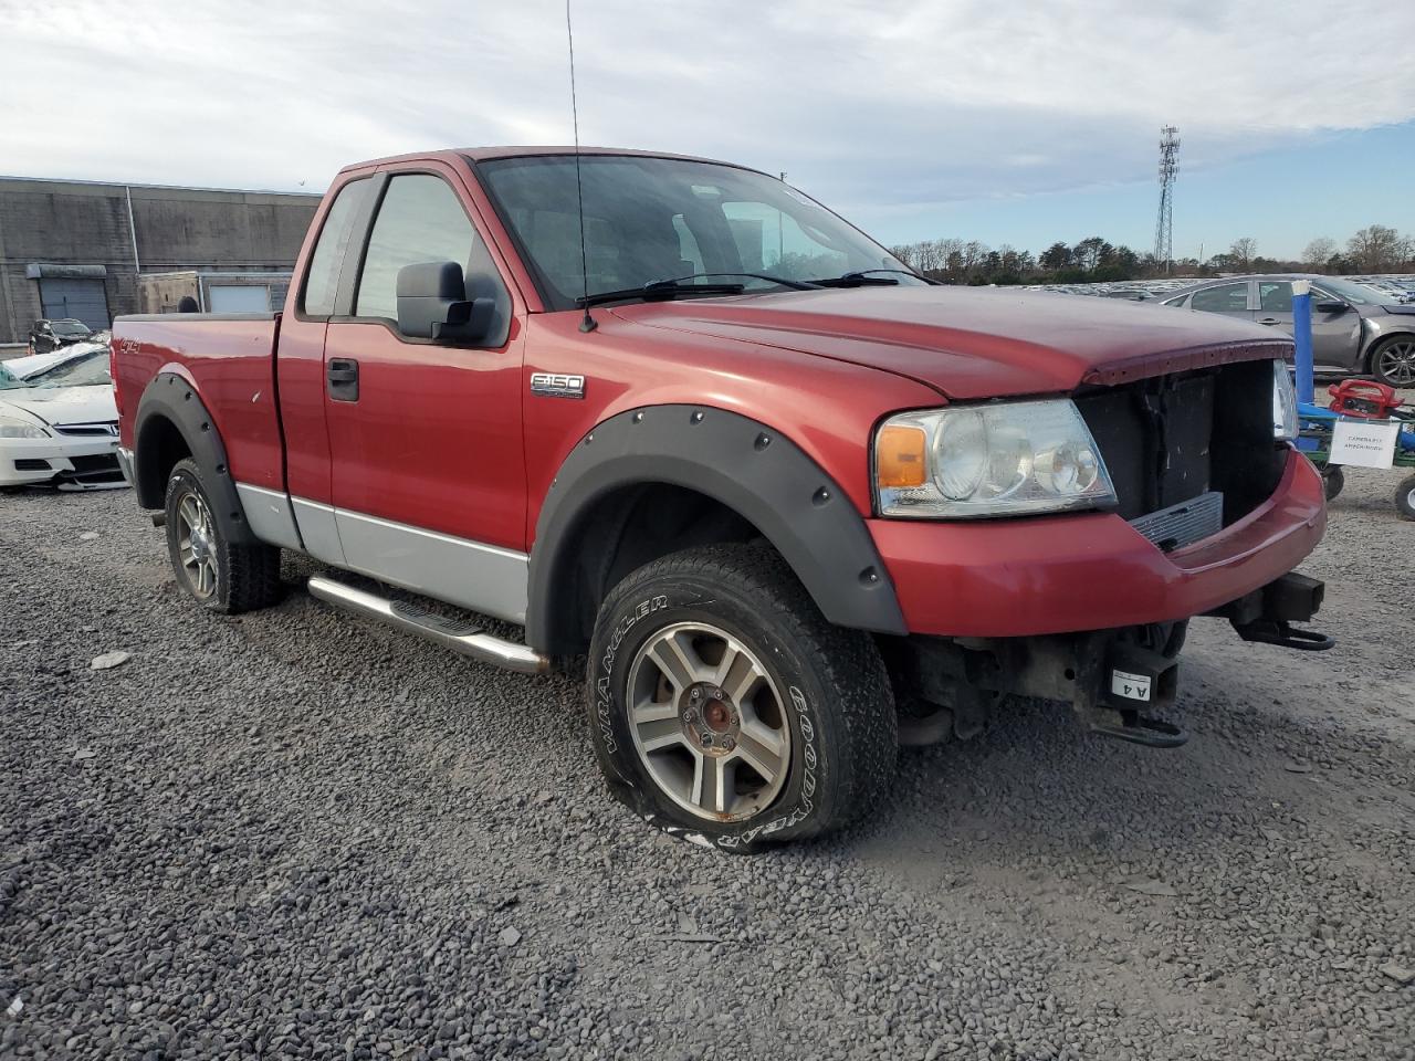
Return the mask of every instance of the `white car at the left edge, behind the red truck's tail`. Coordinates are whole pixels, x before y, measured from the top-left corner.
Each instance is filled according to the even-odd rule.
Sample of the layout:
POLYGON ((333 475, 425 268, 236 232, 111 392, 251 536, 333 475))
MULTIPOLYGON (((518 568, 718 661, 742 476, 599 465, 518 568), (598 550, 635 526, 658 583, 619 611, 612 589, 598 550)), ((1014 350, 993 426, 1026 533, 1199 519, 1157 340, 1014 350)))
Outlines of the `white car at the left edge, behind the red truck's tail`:
POLYGON ((126 487, 108 348, 0 362, 0 487, 126 487))

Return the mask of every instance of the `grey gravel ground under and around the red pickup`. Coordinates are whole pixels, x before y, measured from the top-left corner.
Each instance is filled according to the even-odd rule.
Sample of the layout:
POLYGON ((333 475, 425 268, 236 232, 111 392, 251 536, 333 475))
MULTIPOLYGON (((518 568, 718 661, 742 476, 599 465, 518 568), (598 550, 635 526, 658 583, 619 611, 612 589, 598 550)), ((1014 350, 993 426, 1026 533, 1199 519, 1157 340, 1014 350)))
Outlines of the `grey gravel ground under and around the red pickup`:
POLYGON ((208 617, 126 491, 0 497, 0 1057, 1415 1058, 1394 481, 1305 567, 1336 651, 1196 624, 1187 747, 1017 705, 756 859, 611 802, 573 680, 208 617))

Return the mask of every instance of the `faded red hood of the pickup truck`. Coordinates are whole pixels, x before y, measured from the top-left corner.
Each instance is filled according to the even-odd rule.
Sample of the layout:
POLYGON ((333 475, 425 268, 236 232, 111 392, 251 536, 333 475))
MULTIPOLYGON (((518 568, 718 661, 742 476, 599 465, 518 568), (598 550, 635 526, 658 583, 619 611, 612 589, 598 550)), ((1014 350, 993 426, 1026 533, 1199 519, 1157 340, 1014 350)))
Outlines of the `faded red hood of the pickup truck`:
POLYGON ((961 400, 1070 392, 1292 351, 1290 340, 1262 325, 1211 313, 985 287, 788 291, 614 313, 880 368, 961 400))

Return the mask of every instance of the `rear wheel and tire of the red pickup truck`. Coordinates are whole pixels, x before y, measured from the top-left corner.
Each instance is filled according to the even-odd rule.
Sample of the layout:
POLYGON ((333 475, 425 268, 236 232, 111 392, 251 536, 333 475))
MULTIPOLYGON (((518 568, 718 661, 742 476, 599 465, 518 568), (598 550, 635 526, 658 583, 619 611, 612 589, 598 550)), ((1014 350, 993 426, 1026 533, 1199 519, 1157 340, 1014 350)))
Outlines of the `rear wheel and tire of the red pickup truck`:
POLYGON ((280 550, 262 542, 236 545, 231 514, 211 504, 194 460, 167 480, 167 553, 177 584, 212 611, 236 614, 280 600, 280 550))

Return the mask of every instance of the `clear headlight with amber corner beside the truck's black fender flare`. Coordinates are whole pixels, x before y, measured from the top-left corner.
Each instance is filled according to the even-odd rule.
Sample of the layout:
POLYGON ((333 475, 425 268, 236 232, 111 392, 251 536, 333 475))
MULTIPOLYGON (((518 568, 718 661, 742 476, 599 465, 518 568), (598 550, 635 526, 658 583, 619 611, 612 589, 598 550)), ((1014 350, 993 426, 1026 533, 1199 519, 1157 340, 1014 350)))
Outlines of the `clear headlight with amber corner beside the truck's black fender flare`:
POLYGON ((914 519, 1063 512, 1115 504, 1070 399, 891 416, 874 439, 880 515, 914 519))

